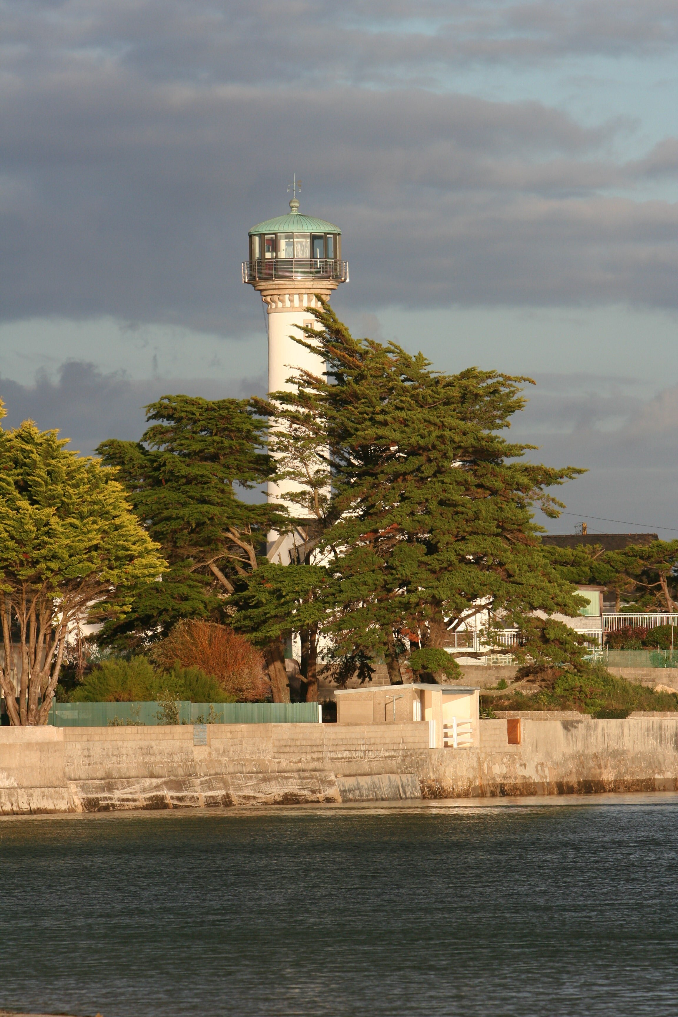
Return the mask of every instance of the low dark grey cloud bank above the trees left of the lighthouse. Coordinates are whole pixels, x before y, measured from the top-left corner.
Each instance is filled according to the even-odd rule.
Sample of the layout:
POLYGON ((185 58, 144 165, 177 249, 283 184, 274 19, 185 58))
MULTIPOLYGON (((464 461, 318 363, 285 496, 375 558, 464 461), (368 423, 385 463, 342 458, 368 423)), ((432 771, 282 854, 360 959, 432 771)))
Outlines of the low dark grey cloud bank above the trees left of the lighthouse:
POLYGON ((35 384, 22 385, 0 377, 0 399, 7 416, 1 426, 16 427, 35 420, 43 430, 56 427, 70 438, 71 448, 88 455, 105 438, 138 440, 144 430, 143 407, 161 396, 184 393, 205 399, 238 399, 263 395, 261 378, 243 379, 225 392, 223 381, 163 378, 133 381, 123 371, 104 373, 81 361, 62 364, 56 380, 38 372, 35 384), (188 390, 188 391, 187 391, 188 390))

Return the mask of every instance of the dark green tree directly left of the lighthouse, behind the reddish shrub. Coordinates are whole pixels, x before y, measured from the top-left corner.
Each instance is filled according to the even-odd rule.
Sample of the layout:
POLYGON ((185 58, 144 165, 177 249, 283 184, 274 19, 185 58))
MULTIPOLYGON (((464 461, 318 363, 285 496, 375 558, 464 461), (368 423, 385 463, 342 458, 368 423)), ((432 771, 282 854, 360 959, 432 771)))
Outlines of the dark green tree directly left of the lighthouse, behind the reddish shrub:
MULTIPOLYGON (((267 422, 247 401, 164 396, 146 407, 146 420, 139 441, 110 439, 97 450, 118 468, 170 562, 162 581, 138 590, 124 621, 105 627, 104 641, 119 647, 144 645, 181 618, 230 617, 234 584, 265 561, 266 532, 288 526, 285 510, 238 496, 273 473, 267 422)), ((273 698, 289 700, 283 650, 274 643, 264 651, 273 698)))

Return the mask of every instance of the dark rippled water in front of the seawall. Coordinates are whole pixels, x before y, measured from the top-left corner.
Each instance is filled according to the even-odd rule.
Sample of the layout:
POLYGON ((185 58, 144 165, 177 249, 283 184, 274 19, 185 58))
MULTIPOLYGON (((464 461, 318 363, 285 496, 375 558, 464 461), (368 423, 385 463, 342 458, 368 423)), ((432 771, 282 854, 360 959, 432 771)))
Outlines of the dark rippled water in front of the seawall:
POLYGON ((678 1008, 678 795, 0 820, 0 1008, 678 1008))

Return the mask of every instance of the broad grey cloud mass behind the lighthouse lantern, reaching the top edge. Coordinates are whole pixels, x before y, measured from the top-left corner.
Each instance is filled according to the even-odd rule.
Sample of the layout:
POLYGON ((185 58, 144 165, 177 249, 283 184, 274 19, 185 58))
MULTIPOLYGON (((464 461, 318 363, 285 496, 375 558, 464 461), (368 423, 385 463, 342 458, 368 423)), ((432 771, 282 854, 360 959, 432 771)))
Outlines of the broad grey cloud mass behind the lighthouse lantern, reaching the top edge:
POLYGON ((676 41, 673 6, 425 2, 411 15, 378 2, 10 4, 0 314, 258 326, 239 260, 247 229, 284 211, 295 168, 304 207, 344 229, 353 307, 675 306, 678 206, 618 195, 678 175, 678 142, 623 164, 617 122, 592 129, 395 73, 430 81, 436 60, 520 48, 659 51, 676 41))

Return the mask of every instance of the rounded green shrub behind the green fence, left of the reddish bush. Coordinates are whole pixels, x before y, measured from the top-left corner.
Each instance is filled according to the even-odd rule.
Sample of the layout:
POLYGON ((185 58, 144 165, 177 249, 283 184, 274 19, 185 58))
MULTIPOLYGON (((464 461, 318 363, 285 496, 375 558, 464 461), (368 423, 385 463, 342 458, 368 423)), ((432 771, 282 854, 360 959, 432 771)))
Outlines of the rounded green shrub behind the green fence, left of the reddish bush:
POLYGON ((160 700, 163 696, 191 703, 235 702, 234 696, 200 668, 175 665, 163 671, 145 657, 104 661, 84 676, 71 700, 74 703, 129 703, 160 700))

